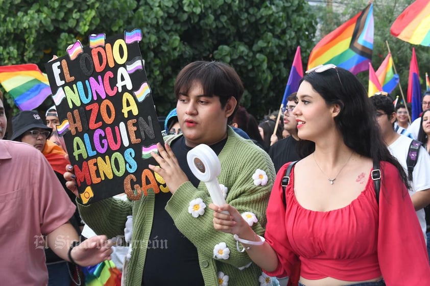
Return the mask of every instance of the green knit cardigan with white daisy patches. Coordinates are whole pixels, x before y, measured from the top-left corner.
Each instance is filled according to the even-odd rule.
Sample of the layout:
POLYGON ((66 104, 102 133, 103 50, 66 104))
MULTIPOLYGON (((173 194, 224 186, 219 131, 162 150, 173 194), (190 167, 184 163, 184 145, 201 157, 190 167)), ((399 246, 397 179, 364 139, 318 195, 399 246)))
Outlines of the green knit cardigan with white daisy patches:
MULTIPOLYGON (((179 136, 170 137, 165 138, 166 142, 172 142, 179 136)), ((227 142, 218 157, 221 162, 218 180, 228 188, 226 202, 240 213, 255 214, 258 222, 252 227, 257 235, 264 235, 266 208, 275 180, 275 170, 269 155, 228 127, 227 142), (268 181, 265 186, 254 184, 252 175, 257 169, 267 174, 268 181)), ((141 285, 154 215, 155 195, 150 190, 147 196, 142 195, 137 201, 108 198, 90 205, 83 205, 77 200, 82 219, 99 235, 124 236, 127 216, 133 215, 131 259, 126 263, 123 273, 127 286, 141 285)), ((211 203, 204 183, 201 182, 196 189, 187 181, 171 197, 165 210, 173 218, 176 227, 196 246, 205 285, 217 286, 219 272, 229 276, 229 286, 260 285, 258 279, 261 269, 254 263, 243 270, 239 269, 249 265, 251 259, 246 252, 237 251, 236 241, 231 234, 213 228, 212 210, 206 207, 204 214, 197 218, 188 213, 189 202, 196 198, 201 198, 206 205, 211 203), (228 259, 214 258, 214 247, 221 242, 225 242, 230 250, 228 259)), ((163 271, 162 266, 160 271, 163 271)), ((169 275, 168 271, 166 275, 169 275)), ((178 284, 182 283, 178 281, 178 284)))

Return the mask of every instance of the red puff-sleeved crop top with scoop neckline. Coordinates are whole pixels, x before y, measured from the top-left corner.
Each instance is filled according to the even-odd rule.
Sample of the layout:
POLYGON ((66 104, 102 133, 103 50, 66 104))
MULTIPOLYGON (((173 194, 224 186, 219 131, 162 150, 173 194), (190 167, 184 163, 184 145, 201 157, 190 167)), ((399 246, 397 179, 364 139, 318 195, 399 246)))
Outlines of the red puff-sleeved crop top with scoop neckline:
POLYGON ((300 275, 362 281, 383 275, 388 286, 430 285, 430 266, 422 231, 397 169, 381 162, 379 205, 373 180, 349 205, 328 212, 304 209, 294 194, 294 167, 286 187, 286 211, 278 172, 267 209, 266 241, 276 251, 284 277, 300 259, 300 275), (282 215, 284 214, 284 215, 282 215))

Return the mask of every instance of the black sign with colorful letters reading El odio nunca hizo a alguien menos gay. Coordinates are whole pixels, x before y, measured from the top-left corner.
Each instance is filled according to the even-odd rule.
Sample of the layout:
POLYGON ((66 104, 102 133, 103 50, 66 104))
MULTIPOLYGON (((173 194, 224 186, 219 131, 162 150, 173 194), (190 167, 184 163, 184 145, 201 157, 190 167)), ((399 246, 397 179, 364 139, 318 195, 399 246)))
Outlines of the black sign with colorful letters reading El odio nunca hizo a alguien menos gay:
POLYGON ((57 106, 57 130, 66 143, 84 204, 126 192, 132 200, 166 192, 148 165, 163 143, 138 42, 139 29, 106 38, 89 36, 67 55, 45 64, 57 106))

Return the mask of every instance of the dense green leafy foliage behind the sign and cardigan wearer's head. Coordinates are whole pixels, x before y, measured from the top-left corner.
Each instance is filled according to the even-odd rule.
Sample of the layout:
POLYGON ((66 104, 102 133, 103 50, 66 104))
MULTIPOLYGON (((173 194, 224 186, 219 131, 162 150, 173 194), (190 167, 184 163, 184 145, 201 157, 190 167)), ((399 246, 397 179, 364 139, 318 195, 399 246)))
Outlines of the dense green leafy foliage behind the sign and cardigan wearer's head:
POLYGON ((304 0, 0 0, 0 7, 0 65, 36 63, 44 71, 78 39, 85 46, 90 34, 141 29, 159 116, 175 107, 176 74, 196 60, 232 65, 246 88, 242 105, 257 118, 278 109, 296 47, 306 58, 317 25, 304 0))

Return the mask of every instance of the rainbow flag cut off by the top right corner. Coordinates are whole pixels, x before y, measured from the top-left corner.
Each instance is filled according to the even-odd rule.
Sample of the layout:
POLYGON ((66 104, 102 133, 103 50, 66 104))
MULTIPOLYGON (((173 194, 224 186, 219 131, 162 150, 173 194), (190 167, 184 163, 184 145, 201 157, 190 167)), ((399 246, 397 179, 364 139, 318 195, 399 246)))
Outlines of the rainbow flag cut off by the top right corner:
POLYGON ((391 35, 405 42, 430 46, 430 1, 417 0, 397 17, 391 35))

